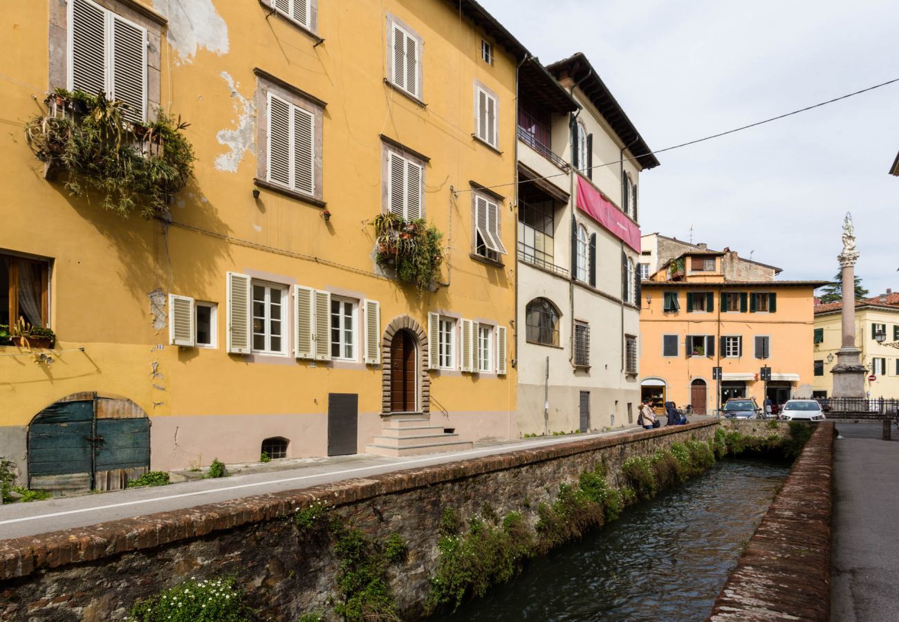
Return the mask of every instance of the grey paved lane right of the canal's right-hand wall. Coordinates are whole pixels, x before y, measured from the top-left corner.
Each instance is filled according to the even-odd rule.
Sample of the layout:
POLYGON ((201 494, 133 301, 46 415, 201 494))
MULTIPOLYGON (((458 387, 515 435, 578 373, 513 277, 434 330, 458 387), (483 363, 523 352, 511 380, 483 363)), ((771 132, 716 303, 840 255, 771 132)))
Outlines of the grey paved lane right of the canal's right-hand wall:
POLYGON ((882 424, 837 423, 831 619, 899 620, 899 431, 882 424))

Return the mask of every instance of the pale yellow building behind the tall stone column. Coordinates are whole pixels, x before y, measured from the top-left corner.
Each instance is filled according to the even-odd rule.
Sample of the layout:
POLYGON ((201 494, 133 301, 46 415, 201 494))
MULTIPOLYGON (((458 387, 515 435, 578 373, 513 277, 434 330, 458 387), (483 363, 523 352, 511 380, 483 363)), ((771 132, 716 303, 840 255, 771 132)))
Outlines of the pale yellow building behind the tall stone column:
MULTIPOLYGON (((831 369, 836 364, 842 341, 841 312, 839 302, 814 307, 816 397, 832 397, 831 369)), ((861 364, 868 368, 865 377, 868 396, 899 396, 899 294, 887 290, 886 294, 856 301, 855 342, 861 349, 861 364), (878 338, 878 335, 881 336, 878 338)))

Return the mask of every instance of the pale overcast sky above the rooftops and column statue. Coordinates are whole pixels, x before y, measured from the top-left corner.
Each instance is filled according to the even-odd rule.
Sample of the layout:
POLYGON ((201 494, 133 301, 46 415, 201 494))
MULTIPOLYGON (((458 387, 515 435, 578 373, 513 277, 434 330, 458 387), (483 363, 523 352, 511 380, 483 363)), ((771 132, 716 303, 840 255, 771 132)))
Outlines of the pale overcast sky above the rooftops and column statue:
MULTIPOLYGON (((482 4, 544 64, 582 51, 653 149, 899 77, 895 0, 482 4)), ((899 83, 658 155, 641 227, 829 280, 851 211, 856 274, 899 289, 897 151, 899 83)))

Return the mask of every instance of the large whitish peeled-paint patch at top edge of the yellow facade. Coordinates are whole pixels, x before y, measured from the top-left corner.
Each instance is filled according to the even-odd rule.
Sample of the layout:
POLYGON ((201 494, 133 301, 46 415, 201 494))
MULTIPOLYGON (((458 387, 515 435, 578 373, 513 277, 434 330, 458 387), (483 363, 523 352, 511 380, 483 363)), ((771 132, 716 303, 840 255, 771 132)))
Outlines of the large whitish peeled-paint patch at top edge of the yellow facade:
POLYGON ((177 64, 192 63, 200 48, 227 54, 227 23, 212 0, 153 0, 153 8, 168 19, 165 38, 178 55, 177 64))

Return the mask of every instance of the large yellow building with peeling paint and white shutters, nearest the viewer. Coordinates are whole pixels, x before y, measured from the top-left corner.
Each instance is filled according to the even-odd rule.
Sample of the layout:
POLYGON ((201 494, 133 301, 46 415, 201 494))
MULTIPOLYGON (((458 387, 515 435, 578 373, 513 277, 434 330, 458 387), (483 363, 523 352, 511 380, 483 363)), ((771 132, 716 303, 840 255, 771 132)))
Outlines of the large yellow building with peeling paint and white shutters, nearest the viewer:
MULTIPOLYGON (((35 417, 57 434, 45 411, 63 399, 93 404, 94 438, 102 412, 149 422, 148 465, 95 464, 92 487, 263 450, 396 455, 516 435, 515 222, 485 187, 514 179, 524 54, 468 2, 6 7, 0 324, 22 316, 56 342, 0 346, 0 455, 27 477, 35 417), (190 123, 193 175, 164 213, 121 218, 45 178, 22 127, 46 93, 85 84, 190 123), (375 261, 384 213, 443 235, 421 295, 375 261), (422 432, 396 438, 394 413, 422 432)), ((41 471, 49 487, 65 468, 41 471)))

